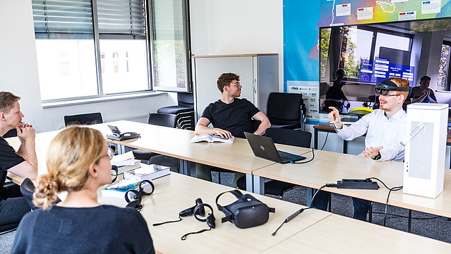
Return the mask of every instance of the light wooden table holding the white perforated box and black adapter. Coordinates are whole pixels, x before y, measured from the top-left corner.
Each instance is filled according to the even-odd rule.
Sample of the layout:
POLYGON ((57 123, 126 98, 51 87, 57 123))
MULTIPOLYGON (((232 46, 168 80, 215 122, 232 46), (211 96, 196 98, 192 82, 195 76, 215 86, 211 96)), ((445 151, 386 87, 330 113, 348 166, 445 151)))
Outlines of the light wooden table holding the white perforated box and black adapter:
MULTIPOLYGON (((306 156, 306 155, 304 155, 306 156)), ((315 150, 315 159, 307 164, 273 164, 253 171, 254 182, 262 182, 262 177, 283 182, 291 182, 313 189, 324 184, 335 184, 342 179, 365 179, 377 177, 388 187, 402 186, 404 164, 397 161, 374 161, 361 156, 315 150)), ((345 196, 363 198, 377 203, 386 203, 388 189, 378 183, 379 190, 324 188, 325 191, 345 196)), ((437 198, 404 194, 402 191, 390 193, 389 205, 414 209, 429 214, 451 217, 451 172, 445 170, 443 193, 437 198)))

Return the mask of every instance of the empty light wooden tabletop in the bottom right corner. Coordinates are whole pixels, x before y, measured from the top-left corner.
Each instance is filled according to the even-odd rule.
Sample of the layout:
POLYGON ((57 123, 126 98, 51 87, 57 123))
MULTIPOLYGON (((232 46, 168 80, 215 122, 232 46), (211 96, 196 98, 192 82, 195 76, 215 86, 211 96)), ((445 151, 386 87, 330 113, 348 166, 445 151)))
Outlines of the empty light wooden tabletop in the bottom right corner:
POLYGON ((332 214, 263 253, 449 253, 450 246, 332 214))

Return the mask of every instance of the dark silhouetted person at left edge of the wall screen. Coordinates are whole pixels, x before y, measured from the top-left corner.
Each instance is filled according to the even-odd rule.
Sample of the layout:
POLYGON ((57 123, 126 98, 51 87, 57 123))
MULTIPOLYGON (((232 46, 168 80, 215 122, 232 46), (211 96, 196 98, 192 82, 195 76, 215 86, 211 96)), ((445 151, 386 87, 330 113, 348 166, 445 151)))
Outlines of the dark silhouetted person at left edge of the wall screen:
POLYGON ((342 87, 346 84, 343 81, 345 76, 346 72, 342 68, 335 70, 333 85, 326 92, 326 100, 324 101, 325 111, 330 111, 330 106, 334 106, 340 112, 343 109, 343 102, 347 101, 347 97, 342 91, 342 87))

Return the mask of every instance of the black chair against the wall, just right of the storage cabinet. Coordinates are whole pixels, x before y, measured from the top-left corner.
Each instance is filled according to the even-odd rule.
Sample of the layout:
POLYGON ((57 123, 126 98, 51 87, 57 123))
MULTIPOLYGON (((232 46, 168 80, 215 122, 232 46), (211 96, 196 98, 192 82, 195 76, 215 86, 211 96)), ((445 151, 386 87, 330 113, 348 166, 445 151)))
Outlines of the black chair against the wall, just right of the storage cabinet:
POLYGON ((270 93, 267 114, 271 128, 300 129, 305 106, 299 93, 270 93))

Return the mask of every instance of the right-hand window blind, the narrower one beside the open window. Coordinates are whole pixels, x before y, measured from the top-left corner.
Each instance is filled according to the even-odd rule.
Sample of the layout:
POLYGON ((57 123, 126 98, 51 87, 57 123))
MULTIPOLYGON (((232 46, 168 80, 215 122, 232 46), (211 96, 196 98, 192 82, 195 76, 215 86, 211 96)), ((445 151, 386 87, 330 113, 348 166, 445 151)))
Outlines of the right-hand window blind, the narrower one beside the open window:
POLYGON ((99 33, 145 35, 143 0, 97 0, 99 33))

